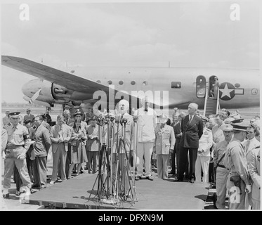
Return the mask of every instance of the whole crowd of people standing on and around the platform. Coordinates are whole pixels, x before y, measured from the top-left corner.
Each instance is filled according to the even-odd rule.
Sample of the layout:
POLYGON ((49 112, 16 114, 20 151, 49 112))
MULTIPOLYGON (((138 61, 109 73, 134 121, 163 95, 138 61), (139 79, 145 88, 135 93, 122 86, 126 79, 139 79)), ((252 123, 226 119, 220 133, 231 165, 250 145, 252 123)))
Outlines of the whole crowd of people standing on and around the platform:
POLYGON ((174 108, 170 121, 167 115, 157 115, 150 108, 146 96, 141 104, 130 115, 129 102, 121 100, 116 113, 120 121, 126 120, 125 125, 115 123, 108 136, 107 129, 99 133, 97 121, 103 114, 97 105, 86 114, 77 110, 71 115, 66 108, 53 126, 46 115, 31 115, 29 109, 24 118, 19 112, 7 111, 2 122, 4 198, 8 198, 12 174, 17 186, 15 195, 46 188, 49 149, 53 155, 50 184, 72 179, 73 172, 79 175, 84 169, 97 173, 98 152, 104 142, 101 139, 107 136, 112 139, 112 174, 117 176, 114 172, 118 171, 118 161, 124 185, 129 184, 125 168, 131 158, 139 161, 131 162, 136 167, 136 181, 153 181, 152 162, 156 161, 158 179, 169 179, 169 174, 174 174, 175 182, 214 184, 218 209, 225 209, 227 193, 229 209, 260 209, 259 116, 247 123, 238 110, 230 113, 222 109, 217 115, 204 117, 198 105, 190 103, 188 113, 178 113, 174 108), (117 143, 118 139, 124 139, 124 145, 117 143))

